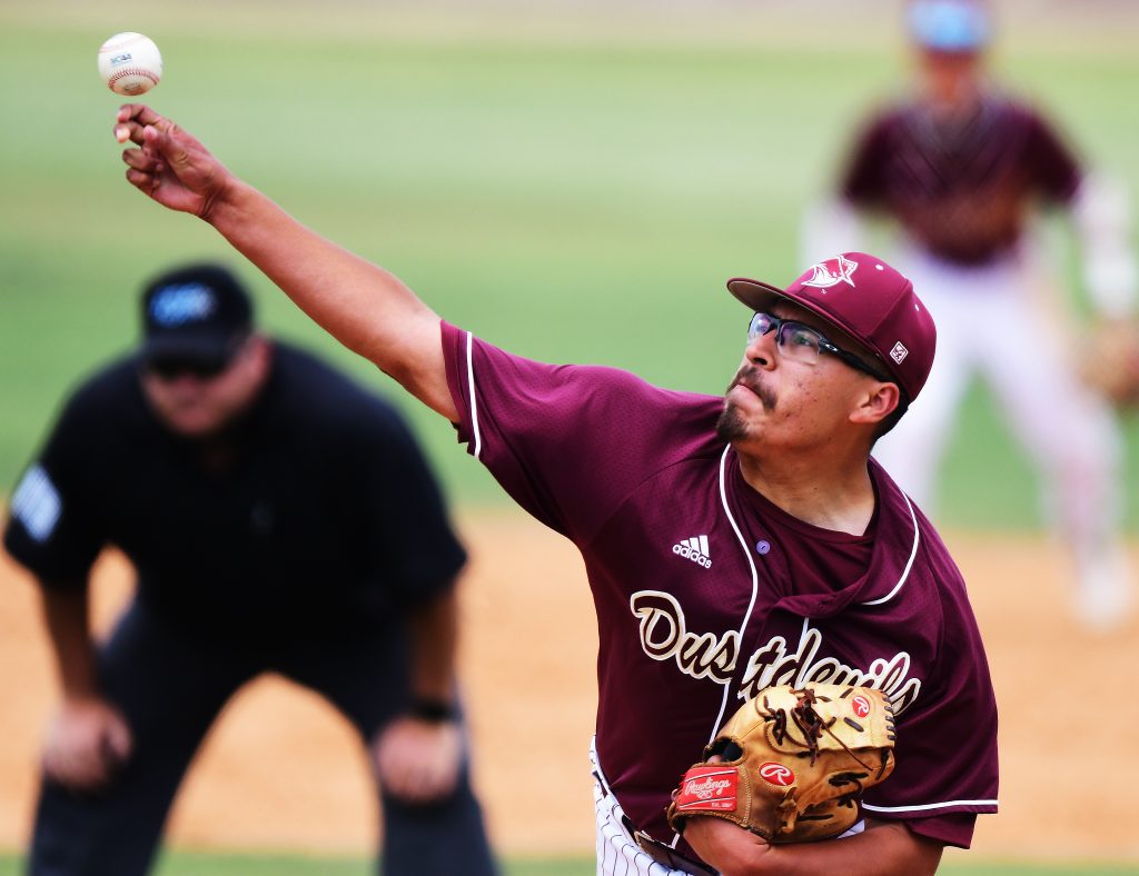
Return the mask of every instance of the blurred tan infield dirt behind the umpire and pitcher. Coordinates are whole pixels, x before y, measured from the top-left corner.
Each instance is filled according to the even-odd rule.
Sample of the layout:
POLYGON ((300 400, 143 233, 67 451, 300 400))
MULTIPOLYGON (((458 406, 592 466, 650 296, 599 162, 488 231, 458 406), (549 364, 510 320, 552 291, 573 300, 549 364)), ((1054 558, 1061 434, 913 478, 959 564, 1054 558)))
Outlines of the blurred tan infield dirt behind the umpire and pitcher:
MULTIPOLYGON (((462 679, 475 780, 507 854, 588 856, 588 746, 597 633, 572 546, 511 511, 466 511, 462 679)), ((1139 786, 1128 750, 1139 699, 1139 623, 1082 630, 1062 552, 1039 536, 948 532, 969 584, 1000 704, 1001 812, 969 857, 1139 861, 1139 786)), ((1139 552, 1134 552, 1139 564, 1139 552)), ((130 590, 117 555, 97 569, 105 629, 130 590)), ((0 848, 23 845, 39 739, 56 686, 30 579, 0 555, 0 848)), ((650 734, 652 728, 646 728, 650 734)), ((262 678, 230 703, 191 769, 170 841, 196 849, 367 852, 377 812, 363 752, 316 694, 262 678)), ((950 852, 956 854, 956 852, 950 852)))

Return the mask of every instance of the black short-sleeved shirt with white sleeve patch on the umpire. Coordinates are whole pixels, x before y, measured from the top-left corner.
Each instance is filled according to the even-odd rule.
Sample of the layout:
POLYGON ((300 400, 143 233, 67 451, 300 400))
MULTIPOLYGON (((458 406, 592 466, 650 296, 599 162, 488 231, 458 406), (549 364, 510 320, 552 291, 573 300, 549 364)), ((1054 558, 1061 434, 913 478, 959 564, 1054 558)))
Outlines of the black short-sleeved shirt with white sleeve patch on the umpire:
POLYGON ((220 439, 221 473, 155 419, 133 357, 95 374, 13 494, 9 553, 79 585, 116 545, 140 600, 198 623, 367 622, 446 589, 466 554, 403 420, 312 356, 273 349, 255 404, 220 439))

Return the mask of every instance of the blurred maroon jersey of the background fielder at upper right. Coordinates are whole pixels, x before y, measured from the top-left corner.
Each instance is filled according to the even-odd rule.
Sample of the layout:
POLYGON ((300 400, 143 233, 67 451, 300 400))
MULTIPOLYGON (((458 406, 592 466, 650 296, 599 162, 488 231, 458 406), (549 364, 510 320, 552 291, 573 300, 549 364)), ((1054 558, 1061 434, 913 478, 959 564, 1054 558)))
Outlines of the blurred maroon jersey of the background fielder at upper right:
POLYGON ((953 122, 921 104, 882 114, 855 144, 841 188, 934 255, 977 265, 1016 245, 1033 201, 1066 201, 1079 182, 1076 159, 1039 115, 990 97, 953 122))

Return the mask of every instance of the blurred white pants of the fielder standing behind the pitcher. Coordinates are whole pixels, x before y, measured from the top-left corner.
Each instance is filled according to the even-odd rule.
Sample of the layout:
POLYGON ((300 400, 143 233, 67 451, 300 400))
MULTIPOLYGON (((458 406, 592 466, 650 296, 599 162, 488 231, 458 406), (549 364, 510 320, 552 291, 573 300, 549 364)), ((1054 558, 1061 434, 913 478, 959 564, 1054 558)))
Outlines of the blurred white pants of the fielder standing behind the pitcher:
POLYGON ((908 251, 898 266, 934 317, 937 353, 928 382, 875 457, 932 513, 958 407, 980 373, 1042 476, 1049 523, 1077 568, 1095 564, 1117 539, 1123 443, 1107 403, 1074 370, 1079 327, 1057 319, 1055 295, 1039 286, 1027 256, 961 267, 908 251))

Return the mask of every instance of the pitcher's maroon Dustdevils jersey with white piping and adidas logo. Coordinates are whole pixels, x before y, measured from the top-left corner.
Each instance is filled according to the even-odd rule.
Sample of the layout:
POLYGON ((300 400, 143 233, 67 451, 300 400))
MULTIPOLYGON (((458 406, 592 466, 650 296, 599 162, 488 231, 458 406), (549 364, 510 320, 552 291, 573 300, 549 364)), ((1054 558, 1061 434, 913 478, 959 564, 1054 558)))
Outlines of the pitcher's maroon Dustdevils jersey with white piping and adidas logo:
POLYGON ((819 529, 743 479, 722 399, 608 367, 547 365, 444 323, 459 439, 585 561, 600 639, 597 751, 625 813, 670 841, 681 775, 743 697, 883 689, 893 776, 865 809, 968 846, 997 809, 997 709, 960 572, 871 463, 872 532, 819 529))

